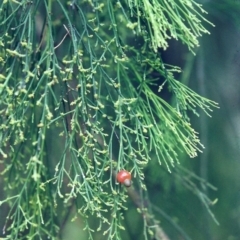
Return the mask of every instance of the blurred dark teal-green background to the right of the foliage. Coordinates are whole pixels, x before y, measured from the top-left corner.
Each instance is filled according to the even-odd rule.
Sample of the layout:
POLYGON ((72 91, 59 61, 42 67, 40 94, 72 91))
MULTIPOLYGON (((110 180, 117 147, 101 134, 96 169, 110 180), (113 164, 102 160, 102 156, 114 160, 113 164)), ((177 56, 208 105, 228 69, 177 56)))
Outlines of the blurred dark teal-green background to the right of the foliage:
MULTIPOLYGON (((178 210, 185 217, 179 213, 176 218, 191 239, 237 240, 240 239, 240 1, 203 4, 215 27, 208 28, 211 35, 202 37, 196 56, 186 54, 178 43, 164 56, 182 66, 182 81, 219 103, 220 108, 212 112, 212 118, 203 113, 199 118, 192 116, 205 150, 196 159, 186 159, 185 164, 190 164, 196 174, 217 188, 217 191, 207 190, 207 194, 218 199, 211 210, 220 225, 214 223, 191 194, 175 192, 166 198, 170 202, 172 198, 181 199, 182 209, 179 204, 178 210)), ((174 206, 172 216, 176 211, 174 206)), ((173 235, 172 239, 178 238, 173 235)))

